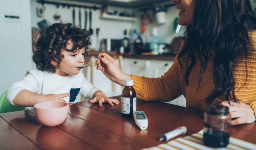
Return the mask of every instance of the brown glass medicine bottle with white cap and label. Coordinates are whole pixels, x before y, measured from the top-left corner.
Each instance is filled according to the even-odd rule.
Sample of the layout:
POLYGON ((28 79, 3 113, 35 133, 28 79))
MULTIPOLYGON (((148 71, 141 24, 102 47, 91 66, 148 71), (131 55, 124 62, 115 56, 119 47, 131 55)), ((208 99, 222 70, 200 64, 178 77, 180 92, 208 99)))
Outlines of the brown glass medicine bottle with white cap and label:
POLYGON ((133 117, 136 111, 136 92, 133 89, 133 80, 125 80, 125 88, 121 95, 121 114, 123 117, 133 117))

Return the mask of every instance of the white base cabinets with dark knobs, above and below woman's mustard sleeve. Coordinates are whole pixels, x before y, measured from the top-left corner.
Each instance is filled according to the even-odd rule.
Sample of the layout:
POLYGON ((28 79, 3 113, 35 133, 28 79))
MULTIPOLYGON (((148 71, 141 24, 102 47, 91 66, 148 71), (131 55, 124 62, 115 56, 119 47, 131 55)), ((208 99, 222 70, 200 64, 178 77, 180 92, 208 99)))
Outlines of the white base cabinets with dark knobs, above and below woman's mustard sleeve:
MULTIPOLYGON (((156 78, 168 71, 174 61, 124 58, 123 62, 125 74, 156 78)), ((183 95, 168 103, 186 107, 186 99, 183 95)))

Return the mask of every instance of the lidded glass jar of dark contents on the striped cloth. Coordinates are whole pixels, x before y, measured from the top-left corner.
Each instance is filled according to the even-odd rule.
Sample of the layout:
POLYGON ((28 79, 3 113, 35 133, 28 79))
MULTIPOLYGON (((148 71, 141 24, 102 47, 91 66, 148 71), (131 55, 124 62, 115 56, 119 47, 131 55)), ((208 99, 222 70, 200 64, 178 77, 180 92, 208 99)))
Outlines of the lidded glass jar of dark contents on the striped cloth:
POLYGON ((204 113, 205 145, 210 147, 226 147, 229 143, 229 128, 231 117, 228 107, 211 104, 204 113))

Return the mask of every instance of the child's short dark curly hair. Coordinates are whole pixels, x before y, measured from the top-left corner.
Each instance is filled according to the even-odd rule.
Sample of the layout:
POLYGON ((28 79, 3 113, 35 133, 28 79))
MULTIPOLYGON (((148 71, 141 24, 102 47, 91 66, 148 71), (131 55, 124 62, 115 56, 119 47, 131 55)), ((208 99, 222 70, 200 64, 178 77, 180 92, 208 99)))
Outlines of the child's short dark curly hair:
POLYGON ((85 49, 84 59, 87 57, 87 49, 91 46, 91 38, 87 31, 72 26, 72 23, 54 23, 44 26, 38 32, 39 37, 36 41, 36 51, 33 61, 36 68, 41 71, 54 73, 59 65, 54 66, 51 61, 60 63, 64 55, 63 51, 76 52, 77 48, 85 49), (72 41, 72 49, 67 49, 68 41, 72 41))

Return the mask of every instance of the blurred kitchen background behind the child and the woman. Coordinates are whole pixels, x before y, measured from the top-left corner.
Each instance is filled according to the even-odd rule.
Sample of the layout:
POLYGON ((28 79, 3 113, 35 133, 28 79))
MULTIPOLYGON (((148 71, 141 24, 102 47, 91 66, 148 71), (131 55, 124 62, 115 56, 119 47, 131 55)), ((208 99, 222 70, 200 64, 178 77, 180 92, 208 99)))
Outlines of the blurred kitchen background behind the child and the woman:
MULTIPOLYGON (((91 33, 86 61, 106 52, 127 74, 160 77, 179 52, 184 27, 177 19, 171 0, 0 0, 0 94, 36 68, 33 42, 41 25, 74 23, 91 33)), ((107 96, 121 94, 95 64, 83 72, 107 96)), ((171 103, 185 106, 185 99, 171 103)))

